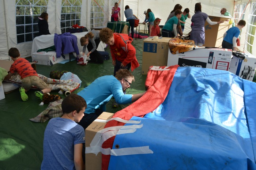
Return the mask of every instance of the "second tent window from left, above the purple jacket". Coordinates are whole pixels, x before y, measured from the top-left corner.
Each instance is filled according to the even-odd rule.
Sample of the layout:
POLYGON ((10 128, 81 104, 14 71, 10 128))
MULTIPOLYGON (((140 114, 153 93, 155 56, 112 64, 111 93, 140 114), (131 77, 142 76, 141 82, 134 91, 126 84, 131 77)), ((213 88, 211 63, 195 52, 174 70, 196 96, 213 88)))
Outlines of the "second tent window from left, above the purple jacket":
POLYGON ((82 0, 62 0, 61 7, 61 33, 65 33, 75 24, 80 25, 82 0))

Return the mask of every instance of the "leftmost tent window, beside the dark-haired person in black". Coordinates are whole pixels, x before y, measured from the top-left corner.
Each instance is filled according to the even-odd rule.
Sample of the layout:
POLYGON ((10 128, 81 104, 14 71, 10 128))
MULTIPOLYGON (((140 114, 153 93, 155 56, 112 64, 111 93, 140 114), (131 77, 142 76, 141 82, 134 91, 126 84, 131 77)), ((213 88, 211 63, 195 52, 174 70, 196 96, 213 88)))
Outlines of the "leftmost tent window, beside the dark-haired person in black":
POLYGON ((38 36, 38 17, 47 11, 48 0, 16 0, 17 43, 33 41, 38 36))

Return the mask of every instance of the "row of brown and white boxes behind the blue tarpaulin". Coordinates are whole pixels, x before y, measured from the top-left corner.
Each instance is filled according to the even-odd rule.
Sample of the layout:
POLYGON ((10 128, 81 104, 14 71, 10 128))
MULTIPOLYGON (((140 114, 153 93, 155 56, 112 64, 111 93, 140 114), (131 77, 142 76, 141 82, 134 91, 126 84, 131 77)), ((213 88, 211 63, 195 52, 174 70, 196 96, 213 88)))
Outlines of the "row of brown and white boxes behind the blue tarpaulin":
POLYGON ((169 50, 170 38, 148 37, 143 41, 142 74, 146 75, 150 66, 201 67, 230 71, 243 79, 253 81, 256 57, 242 53, 242 60, 232 55, 232 50, 222 48, 200 48, 188 52, 172 54, 169 50))

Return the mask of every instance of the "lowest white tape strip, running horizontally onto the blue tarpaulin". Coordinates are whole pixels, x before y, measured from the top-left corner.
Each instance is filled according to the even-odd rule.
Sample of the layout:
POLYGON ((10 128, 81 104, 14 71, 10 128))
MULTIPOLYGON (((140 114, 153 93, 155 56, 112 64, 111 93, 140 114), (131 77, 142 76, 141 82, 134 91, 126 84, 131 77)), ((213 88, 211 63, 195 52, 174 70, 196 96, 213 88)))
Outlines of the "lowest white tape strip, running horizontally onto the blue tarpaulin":
MULTIPOLYGON (((150 150, 149 146, 143 147, 129 147, 129 148, 120 148, 120 149, 110 149, 102 148, 100 146, 86 147, 85 153, 98 153, 101 152, 104 155, 113 155, 113 156, 123 156, 123 155, 136 155, 136 154, 153 154, 154 152, 150 150)), ((97 155, 97 154, 96 154, 97 155)))

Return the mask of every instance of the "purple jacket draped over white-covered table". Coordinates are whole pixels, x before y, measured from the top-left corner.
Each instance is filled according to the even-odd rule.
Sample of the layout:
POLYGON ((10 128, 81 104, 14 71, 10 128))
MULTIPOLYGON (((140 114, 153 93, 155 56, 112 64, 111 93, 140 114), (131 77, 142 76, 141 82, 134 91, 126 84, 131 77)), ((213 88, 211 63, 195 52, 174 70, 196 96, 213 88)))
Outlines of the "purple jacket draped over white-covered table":
POLYGON ((75 52, 79 55, 77 46, 77 37, 70 33, 54 34, 54 46, 56 49, 56 57, 60 58, 61 54, 75 52))

